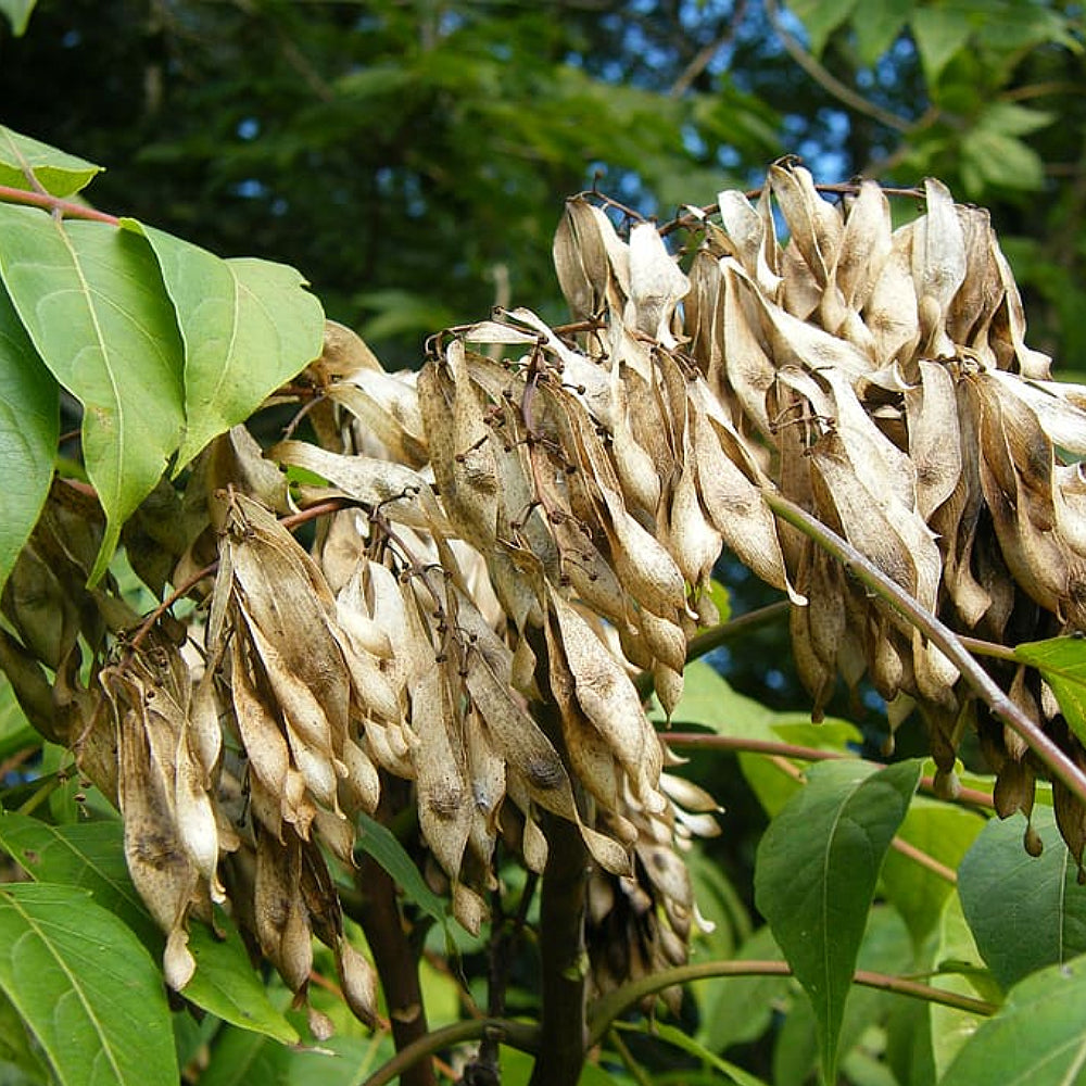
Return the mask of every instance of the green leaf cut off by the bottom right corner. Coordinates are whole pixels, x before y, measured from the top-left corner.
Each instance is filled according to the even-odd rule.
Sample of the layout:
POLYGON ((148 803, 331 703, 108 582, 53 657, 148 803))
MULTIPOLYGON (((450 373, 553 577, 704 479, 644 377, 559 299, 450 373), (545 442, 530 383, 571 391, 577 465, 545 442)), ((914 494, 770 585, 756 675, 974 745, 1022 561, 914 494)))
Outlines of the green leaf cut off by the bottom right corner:
POLYGON ((942 1086, 1086 1083, 1086 959, 1027 976, 981 1023, 942 1086))

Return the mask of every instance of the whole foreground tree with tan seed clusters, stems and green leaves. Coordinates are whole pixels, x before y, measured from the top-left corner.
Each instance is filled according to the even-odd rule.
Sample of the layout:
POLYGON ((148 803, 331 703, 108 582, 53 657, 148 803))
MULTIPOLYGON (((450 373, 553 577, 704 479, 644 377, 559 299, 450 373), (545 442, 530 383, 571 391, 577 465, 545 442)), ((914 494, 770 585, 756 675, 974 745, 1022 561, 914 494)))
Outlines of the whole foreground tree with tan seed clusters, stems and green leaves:
POLYGON ((851 1082, 990 1081, 1053 1047, 1077 1073, 1086 722, 1060 635, 1083 626, 1086 430, 984 213, 930 181, 894 229, 875 186, 819 192, 790 160, 753 202, 659 228, 582 195, 554 243, 570 319, 454 327, 414 376, 325 326, 289 268, 74 203, 89 163, 3 129, 0 168, 0 665, 29 721, 13 710, 8 749, 42 758, 0 819, 37 881, 0 891, 24 1079, 175 1077, 162 976, 210 1012, 172 1022, 201 1082, 254 1053, 429 1082, 469 1039, 469 1081, 500 1047, 506 1081, 574 1082, 589 1050, 589 1078, 665 1081, 628 1014, 657 995, 683 1081, 752 1081, 765 1049, 721 1053, 766 1033, 770 999, 791 1007, 779 1082, 838 1059, 851 1082), (85 409, 54 479, 61 388, 85 409), (292 420, 262 450, 241 424, 269 394, 292 420), (729 618, 722 544, 779 603, 729 618), (846 722, 686 667, 784 616, 816 716, 866 674, 892 724, 923 717, 932 766, 862 761, 846 722), (705 858, 716 800, 665 771, 668 719, 675 749, 742 752, 772 819, 768 927, 705 858), (964 732, 994 780, 956 763, 964 732), (1023 811, 1025 851, 1021 820, 962 800, 1023 811), (774 987, 724 1012, 734 976, 774 987), (433 1026, 452 993, 478 1016, 433 1026), (951 1014, 992 1021, 963 1045, 951 1014), (341 1060, 279 1047, 298 1031, 341 1060))

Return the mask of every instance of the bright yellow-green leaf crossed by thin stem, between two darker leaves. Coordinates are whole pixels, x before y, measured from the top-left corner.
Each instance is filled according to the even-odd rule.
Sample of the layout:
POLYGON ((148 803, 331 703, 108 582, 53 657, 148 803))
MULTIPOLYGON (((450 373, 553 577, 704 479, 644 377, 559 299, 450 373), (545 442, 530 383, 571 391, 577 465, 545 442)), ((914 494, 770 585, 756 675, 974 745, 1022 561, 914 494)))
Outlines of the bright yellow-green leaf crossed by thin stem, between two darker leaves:
MULTIPOLYGON (((956 870, 984 825, 985 819, 971 810, 917 796, 897 835, 956 870)), ((882 886, 919 948, 938 923, 943 904, 954 892, 954 886, 934 871, 895 850, 886 855, 882 886)))

